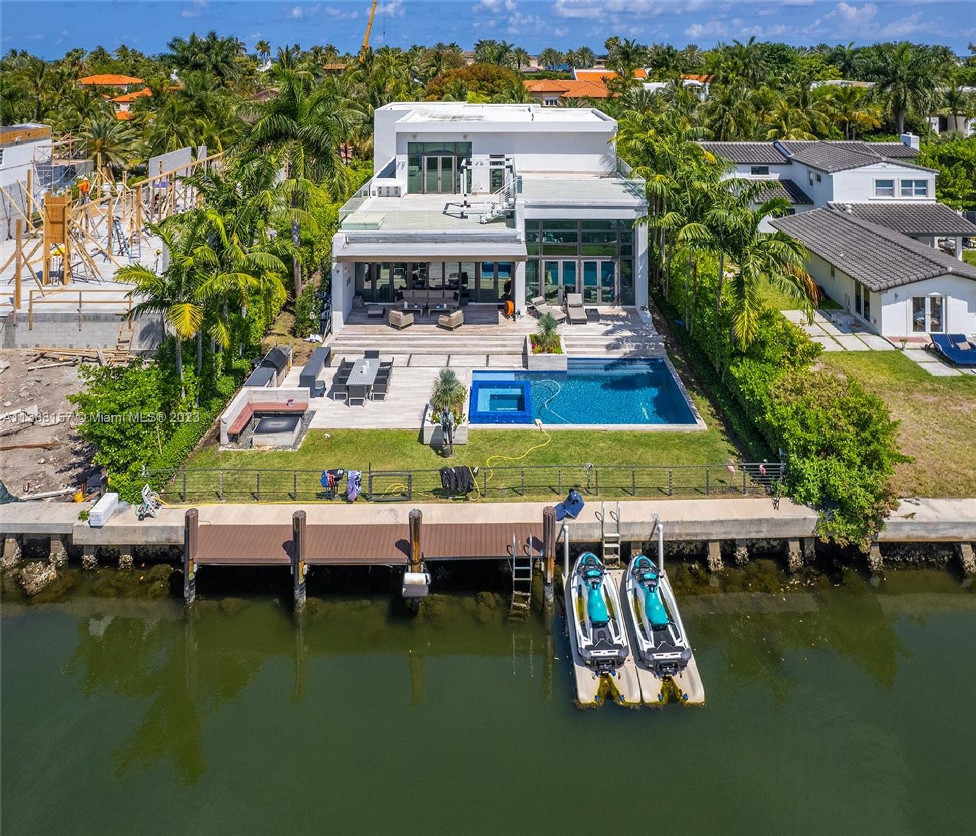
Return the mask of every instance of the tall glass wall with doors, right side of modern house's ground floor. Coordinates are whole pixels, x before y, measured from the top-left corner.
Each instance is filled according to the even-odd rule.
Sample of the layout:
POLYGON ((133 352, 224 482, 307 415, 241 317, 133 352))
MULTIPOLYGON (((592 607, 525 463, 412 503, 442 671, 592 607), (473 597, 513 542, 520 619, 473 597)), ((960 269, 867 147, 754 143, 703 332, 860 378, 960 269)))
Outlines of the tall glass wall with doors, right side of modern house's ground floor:
POLYGON ((634 305, 633 246, 632 221, 526 221, 526 299, 634 305))

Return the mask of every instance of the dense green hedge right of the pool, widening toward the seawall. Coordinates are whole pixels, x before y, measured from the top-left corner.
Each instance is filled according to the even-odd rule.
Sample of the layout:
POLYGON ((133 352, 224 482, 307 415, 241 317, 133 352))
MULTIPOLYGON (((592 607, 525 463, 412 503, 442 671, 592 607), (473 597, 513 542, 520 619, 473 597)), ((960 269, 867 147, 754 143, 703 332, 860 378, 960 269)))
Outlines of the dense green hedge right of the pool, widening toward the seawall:
POLYGON ((748 423, 770 450, 784 452, 785 489, 820 512, 822 537, 866 548, 894 507, 894 466, 907 460, 883 401, 856 380, 814 371, 821 347, 778 311, 763 311, 758 337, 741 353, 708 281, 693 296, 672 280, 671 298, 675 306, 663 310, 675 321, 685 312, 693 336, 680 326, 675 333, 736 433, 748 441, 748 423))

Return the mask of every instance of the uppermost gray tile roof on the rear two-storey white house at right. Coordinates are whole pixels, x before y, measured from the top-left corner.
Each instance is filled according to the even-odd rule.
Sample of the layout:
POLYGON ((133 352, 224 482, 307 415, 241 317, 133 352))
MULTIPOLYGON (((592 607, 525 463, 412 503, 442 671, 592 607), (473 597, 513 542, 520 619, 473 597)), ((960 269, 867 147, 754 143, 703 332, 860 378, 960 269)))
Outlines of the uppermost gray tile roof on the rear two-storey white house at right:
MULTIPOLYGON (((904 143, 834 142, 827 140, 772 143, 702 143, 716 156, 739 165, 784 165, 793 160, 833 173, 876 162, 890 161, 909 168, 921 168, 908 160, 917 155, 904 143)), ((932 169, 922 169, 932 171, 932 169)))

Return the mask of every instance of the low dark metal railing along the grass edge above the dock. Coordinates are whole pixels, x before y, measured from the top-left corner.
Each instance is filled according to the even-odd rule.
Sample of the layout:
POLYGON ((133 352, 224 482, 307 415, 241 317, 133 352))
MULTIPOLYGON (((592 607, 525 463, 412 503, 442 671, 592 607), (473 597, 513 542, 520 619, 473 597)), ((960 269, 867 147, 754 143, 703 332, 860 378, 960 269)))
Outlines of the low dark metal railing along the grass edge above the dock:
MULTIPOLYGON (((447 460, 445 460, 445 464, 447 460)), ((445 489, 440 470, 362 471, 362 497, 373 502, 438 501, 464 496, 445 489)), ((606 499, 780 496, 779 462, 707 465, 526 465, 481 467, 468 498, 558 500, 575 488, 606 499)), ((146 481, 170 502, 329 502, 346 499, 346 481, 321 484, 309 469, 179 468, 147 470, 146 481)))

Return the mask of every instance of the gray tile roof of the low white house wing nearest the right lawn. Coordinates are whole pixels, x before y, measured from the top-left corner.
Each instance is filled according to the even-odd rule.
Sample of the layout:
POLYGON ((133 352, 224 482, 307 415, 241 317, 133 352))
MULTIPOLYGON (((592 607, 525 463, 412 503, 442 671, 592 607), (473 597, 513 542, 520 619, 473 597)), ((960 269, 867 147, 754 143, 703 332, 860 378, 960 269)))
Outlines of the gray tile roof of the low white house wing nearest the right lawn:
POLYGON ((770 223, 874 291, 947 273, 976 281, 976 267, 846 212, 813 209, 770 223))

